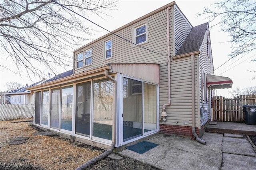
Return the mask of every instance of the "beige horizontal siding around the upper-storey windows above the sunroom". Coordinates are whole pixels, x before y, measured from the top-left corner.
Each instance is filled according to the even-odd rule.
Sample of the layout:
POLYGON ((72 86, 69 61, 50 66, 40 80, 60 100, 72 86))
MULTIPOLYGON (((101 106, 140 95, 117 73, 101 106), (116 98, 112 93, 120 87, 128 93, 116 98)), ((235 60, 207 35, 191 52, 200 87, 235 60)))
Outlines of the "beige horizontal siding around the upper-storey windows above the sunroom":
MULTIPOLYGON (((173 7, 169 10, 169 27, 170 27, 170 42, 173 42, 173 7)), ((142 43, 141 46, 151 51, 160 53, 152 53, 151 51, 145 50, 141 47, 134 46, 133 44, 111 35, 100 41, 97 41, 90 45, 92 46, 92 64, 82 68, 75 69, 75 74, 84 72, 102 66, 108 63, 156 63, 159 64, 160 68, 160 84, 159 84, 159 110, 162 111, 162 105, 168 102, 168 57, 167 55, 167 32, 166 32, 166 9, 158 12, 139 21, 133 25, 130 25, 118 32, 117 35, 133 40, 133 29, 143 23, 147 23, 148 28, 148 42, 142 43), (104 60, 104 41, 112 38, 112 58, 104 60)), ((88 48, 90 48, 88 47, 88 48)), ((81 51, 85 51, 88 48, 83 48, 81 51)), ((173 47, 170 45, 170 53, 172 54, 173 47)), ((75 52, 78 54, 79 51, 75 52)), ((74 62, 76 63, 76 62, 74 62)))

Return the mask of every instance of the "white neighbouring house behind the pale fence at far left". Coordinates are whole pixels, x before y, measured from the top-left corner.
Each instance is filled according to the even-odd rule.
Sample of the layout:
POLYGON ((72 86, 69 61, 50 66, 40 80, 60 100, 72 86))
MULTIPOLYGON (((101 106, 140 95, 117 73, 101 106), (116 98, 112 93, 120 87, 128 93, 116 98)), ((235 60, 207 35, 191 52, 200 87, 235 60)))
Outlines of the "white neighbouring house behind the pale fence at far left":
POLYGON ((34 95, 33 91, 28 91, 26 88, 36 86, 45 81, 43 80, 33 83, 31 85, 26 84, 26 86, 22 88, 17 88, 16 90, 12 90, 11 92, 3 92, 0 94, 3 99, 3 104, 34 104, 34 95))

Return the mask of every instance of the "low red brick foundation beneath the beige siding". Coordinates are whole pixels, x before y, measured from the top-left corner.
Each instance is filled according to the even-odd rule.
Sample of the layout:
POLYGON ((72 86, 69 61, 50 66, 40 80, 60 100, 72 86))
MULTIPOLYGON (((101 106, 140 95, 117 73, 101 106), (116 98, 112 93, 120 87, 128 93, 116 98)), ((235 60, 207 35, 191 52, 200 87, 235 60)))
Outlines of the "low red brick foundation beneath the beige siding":
MULTIPOLYGON (((198 129, 196 127, 196 134, 199 137, 202 137, 205 133, 205 126, 207 123, 201 126, 201 129, 198 129)), ((165 124, 160 124, 160 133, 164 134, 173 134, 173 135, 181 135, 181 136, 187 136, 187 137, 192 137, 192 127, 191 126, 178 126, 178 125, 165 125, 165 124)))

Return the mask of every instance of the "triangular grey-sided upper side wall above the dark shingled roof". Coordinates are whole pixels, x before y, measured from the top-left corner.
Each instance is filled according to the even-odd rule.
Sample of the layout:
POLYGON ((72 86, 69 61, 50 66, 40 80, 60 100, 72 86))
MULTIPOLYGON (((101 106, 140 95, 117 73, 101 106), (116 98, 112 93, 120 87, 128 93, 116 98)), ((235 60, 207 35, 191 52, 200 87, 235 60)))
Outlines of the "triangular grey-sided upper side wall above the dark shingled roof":
POLYGON ((180 10, 174 6, 174 39, 175 39, 175 54, 180 49, 182 43, 190 33, 192 25, 186 20, 180 10))

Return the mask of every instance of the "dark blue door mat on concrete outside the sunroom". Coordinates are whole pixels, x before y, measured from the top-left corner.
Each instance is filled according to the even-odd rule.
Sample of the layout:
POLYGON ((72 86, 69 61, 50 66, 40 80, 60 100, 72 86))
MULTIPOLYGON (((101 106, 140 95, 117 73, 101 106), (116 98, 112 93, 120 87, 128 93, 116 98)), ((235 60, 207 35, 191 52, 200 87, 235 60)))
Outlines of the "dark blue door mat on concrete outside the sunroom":
POLYGON ((136 143, 135 145, 128 146, 128 147, 126 147, 126 149, 132 150, 139 154, 143 154, 144 152, 147 152, 148 150, 153 149, 156 146, 158 146, 158 145, 155 143, 142 141, 140 143, 136 143))

